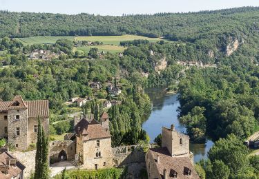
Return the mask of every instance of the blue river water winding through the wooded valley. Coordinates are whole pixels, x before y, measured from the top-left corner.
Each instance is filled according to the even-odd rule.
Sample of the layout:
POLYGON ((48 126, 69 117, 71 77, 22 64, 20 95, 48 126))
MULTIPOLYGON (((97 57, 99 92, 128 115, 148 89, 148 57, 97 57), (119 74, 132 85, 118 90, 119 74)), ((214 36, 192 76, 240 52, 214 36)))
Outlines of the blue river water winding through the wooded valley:
MULTIPOLYGON (((178 94, 166 94, 162 88, 145 89, 153 104, 151 115, 148 117, 142 127, 151 138, 151 142, 161 133, 162 127, 170 127, 175 125, 175 129, 180 132, 186 132, 186 128, 180 124, 178 120, 178 107, 180 106, 177 100, 178 94)), ((193 152, 194 161, 198 162, 201 159, 207 158, 207 152, 212 147, 213 142, 207 140, 204 144, 190 143, 190 151, 193 152)))

